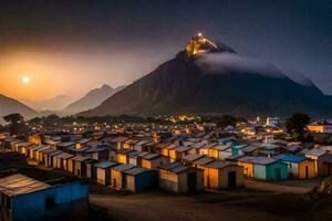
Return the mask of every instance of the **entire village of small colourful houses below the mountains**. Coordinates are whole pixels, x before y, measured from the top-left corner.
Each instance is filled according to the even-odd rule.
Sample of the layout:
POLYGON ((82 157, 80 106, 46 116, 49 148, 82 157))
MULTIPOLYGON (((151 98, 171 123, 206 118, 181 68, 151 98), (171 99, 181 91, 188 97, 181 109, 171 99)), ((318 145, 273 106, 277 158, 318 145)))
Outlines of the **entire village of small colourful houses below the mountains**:
MULTIPOLYGON (((0 192, 8 199, 1 202, 2 220, 19 219, 20 211, 35 215, 40 208, 44 212, 39 214, 46 217, 65 210, 73 215, 77 208, 82 214, 94 201, 89 186, 90 192, 104 187, 103 191, 138 196, 156 190, 179 196, 241 192, 243 188, 305 193, 332 175, 332 146, 279 139, 284 127, 278 117, 224 128, 194 123, 197 117, 166 119, 167 124, 73 122, 55 127, 25 123, 27 135, 2 133, 1 156, 18 155, 29 167, 62 175, 50 185, 49 179, 46 183, 1 165, 0 192), (40 203, 20 207, 29 196, 35 201, 38 193, 40 203), (56 210, 51 212, 52 208, 56 210)), ((329 134, 329 128, 328 122, 308 126, 313 133, 329 134)))

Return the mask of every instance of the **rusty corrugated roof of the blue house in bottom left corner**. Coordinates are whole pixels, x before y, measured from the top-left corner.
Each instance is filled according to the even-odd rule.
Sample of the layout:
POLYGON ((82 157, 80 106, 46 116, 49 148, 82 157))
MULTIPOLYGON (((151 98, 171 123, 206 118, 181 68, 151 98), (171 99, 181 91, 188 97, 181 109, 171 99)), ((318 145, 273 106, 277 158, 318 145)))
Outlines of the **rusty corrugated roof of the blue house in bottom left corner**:
POLYGON ((0 191, 9 197, 27 194, 48 189, 51 186, 48 183, 31 179, 20 173, 0 179, 0 191))

